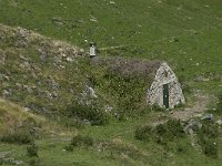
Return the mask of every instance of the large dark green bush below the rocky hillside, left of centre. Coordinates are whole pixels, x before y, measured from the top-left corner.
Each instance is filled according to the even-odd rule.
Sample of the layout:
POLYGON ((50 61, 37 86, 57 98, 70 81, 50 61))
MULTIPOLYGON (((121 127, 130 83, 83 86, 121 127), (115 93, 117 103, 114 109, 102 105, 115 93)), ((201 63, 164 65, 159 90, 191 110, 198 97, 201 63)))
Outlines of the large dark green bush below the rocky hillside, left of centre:
POLYGON ((68 113, 71 117, 88 120, 92 125, 103 125, 109 122, 108 113, 92 105, 83 105, 74 103, 68 107, 68 113))

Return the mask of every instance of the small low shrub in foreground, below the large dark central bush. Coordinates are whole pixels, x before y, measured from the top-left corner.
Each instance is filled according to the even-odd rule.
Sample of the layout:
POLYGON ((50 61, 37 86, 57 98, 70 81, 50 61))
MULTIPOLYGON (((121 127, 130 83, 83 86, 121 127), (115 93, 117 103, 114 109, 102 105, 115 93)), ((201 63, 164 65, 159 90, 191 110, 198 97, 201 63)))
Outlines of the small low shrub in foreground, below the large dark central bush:
POLYGON ((71 141, 72 146, 92 146, 93 138, 84 135, 77 135, 71 141))

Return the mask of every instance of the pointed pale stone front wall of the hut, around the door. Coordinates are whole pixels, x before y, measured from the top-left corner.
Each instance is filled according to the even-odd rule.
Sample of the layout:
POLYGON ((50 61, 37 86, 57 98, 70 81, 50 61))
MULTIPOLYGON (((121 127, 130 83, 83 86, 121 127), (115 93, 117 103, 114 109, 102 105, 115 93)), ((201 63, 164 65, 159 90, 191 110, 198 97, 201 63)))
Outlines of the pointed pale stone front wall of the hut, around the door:
POLYGON ((163 62, 160 69, 157 71, 154 82, 148 91, 147 103, 150 105, 158 104, 161 107, 163 105, 163 85, 169 84, 169 107, 173 108, 180 103, 184 103, 184 96, 181 90, 181 85, 171 70, 171 68, 163 62))

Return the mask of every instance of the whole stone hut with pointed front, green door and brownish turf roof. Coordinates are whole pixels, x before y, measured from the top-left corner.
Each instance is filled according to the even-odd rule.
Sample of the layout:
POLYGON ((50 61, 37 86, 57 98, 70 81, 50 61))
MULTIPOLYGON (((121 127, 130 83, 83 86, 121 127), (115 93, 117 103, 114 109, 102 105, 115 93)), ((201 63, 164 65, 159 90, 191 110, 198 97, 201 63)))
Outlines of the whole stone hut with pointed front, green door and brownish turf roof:
POLYGON ((181 85, 167 62, 125 59, 117 56, 94 56, 91 63, 122 75, 149 77, 151 84, 147 92, 147 104, 158 104, 163 108, 174 108, 185 103, 181 85))

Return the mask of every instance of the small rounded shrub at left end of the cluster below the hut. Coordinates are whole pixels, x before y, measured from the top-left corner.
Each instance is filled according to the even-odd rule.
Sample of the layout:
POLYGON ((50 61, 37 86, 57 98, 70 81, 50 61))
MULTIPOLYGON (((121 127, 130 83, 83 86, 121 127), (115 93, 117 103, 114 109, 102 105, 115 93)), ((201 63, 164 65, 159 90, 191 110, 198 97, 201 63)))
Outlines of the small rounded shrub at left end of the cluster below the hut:
POLYGON ((135 131, 135 138, 140 141, 149 141, 152 136, 151 126, 140 126, 135 131))

